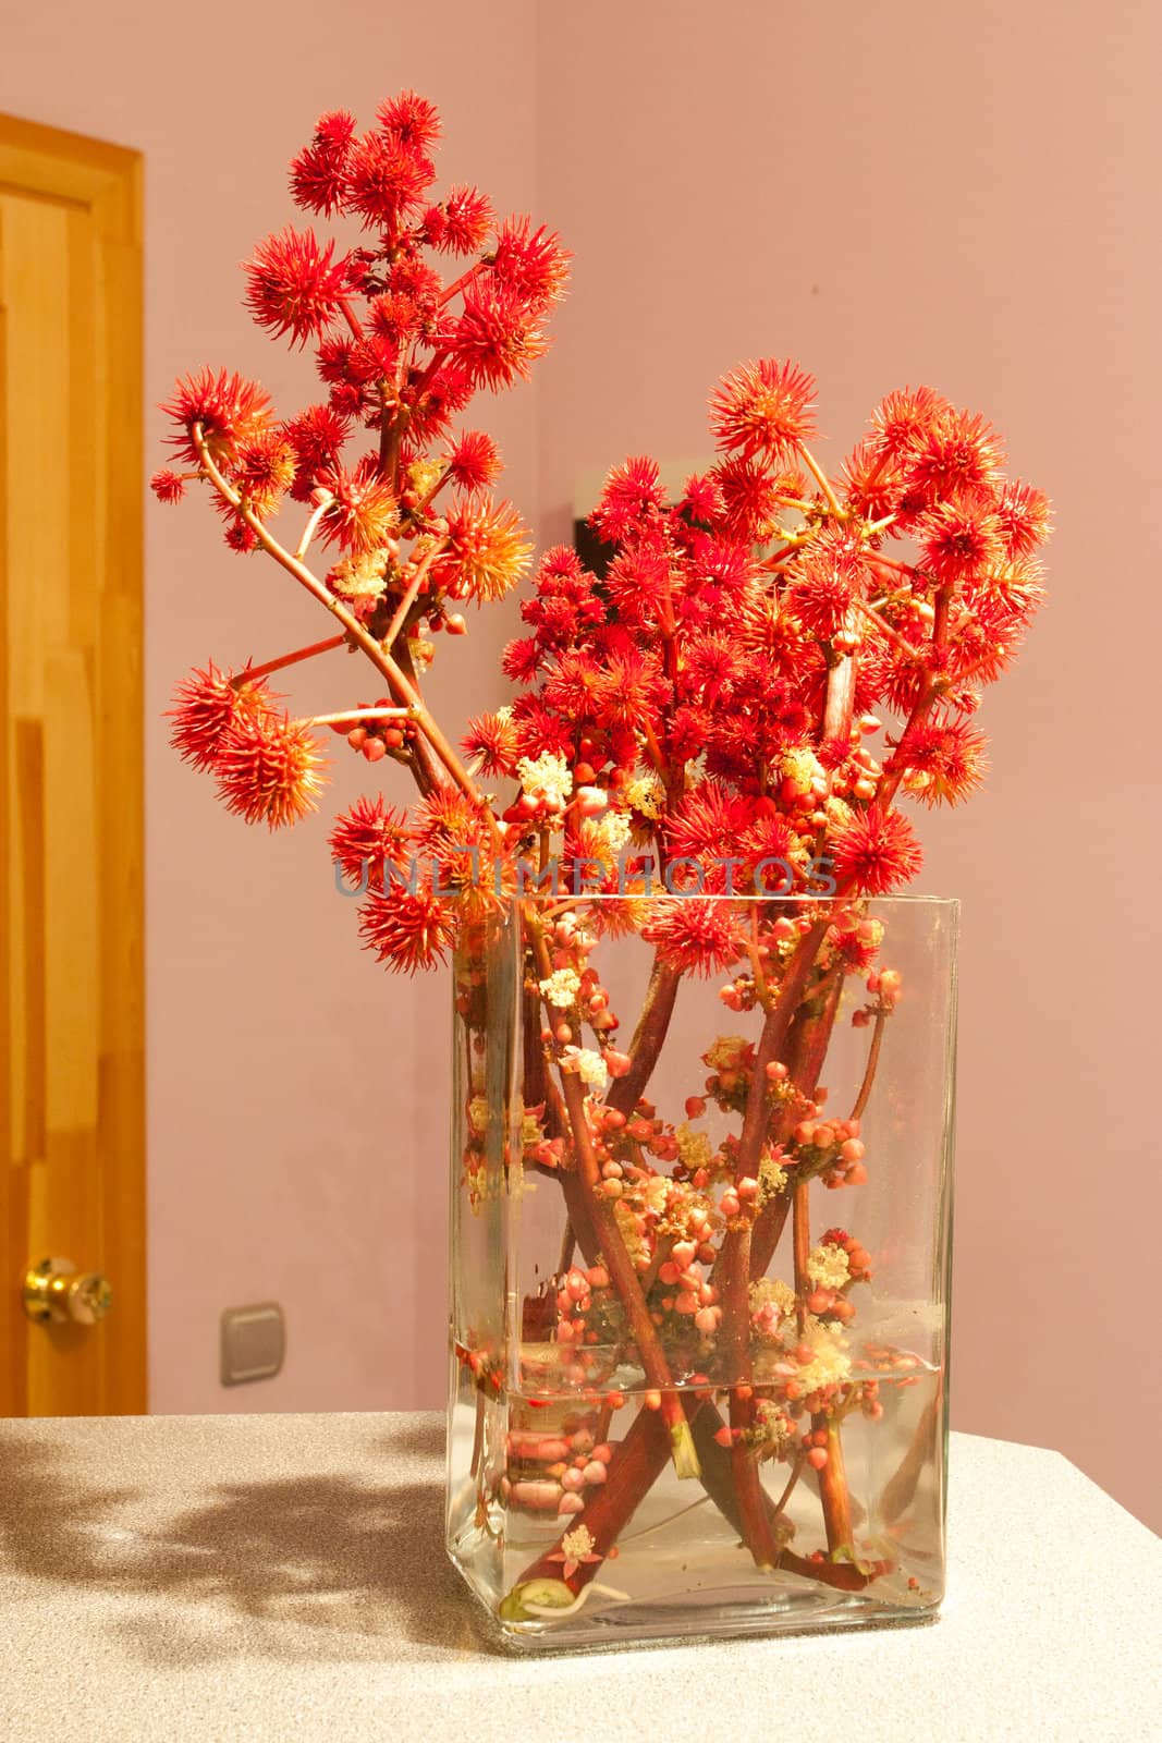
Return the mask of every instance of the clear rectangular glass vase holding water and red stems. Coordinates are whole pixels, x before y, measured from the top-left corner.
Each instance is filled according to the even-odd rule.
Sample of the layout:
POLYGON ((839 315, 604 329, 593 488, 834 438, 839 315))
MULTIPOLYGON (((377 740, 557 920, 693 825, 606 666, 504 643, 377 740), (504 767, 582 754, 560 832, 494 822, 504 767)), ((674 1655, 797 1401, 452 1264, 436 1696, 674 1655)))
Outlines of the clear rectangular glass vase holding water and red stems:
POLYGON ((939 1605, 956 917, 462 927, 448 1553, 512 1647, 939 1605))

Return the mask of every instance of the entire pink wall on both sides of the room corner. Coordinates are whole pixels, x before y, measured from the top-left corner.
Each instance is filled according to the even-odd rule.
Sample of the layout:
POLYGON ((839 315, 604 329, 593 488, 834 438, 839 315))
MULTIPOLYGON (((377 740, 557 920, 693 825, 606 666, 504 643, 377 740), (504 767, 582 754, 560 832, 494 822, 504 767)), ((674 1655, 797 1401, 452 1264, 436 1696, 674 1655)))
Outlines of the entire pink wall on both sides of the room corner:
MULTIPOLYGON (((927 885, 965 901, 956 1421, 1061 1447, 1148 1513, 1157 1145, 1136 1103, 1159 919, 1136 896, 1157 807, 1131 662, 1159 629, 1141 432, 1162 256, 1139 235, 1162 21, 1131 3, 1113 33, 1092 0, 439 16, 350 7, 333 33, 303 0, 277 28, 220 0, 190 28, 127 0, 23 9, 0 108, 146 153, 153 404, 202 357, 291 396, 303 366, 253 333, 232 265, 289 216, 284 162, 317 110, 436 96, 448 173, 535 204, 578 254, 540 389, 495 418, 547 537, 580 472, 704 451, 704 392, 746 356, 817 370, 833 455, 908 380, 1002 424, 1059 532, 1052 608, 988 704, 1000 772, 927 830, 927 885), (840 16, 841 37, 821 23, 840 16)), ((310 612, 197 507, 150 512, 148 589, 153 1407, 436 1403, 443 1246, 415 1236, 443 1220, 446 988, 355 952, 324 819, 246 831, 157 729, 192 659, 308 638, 310 612), (218 1311, 272 1295, 286 1373, 223 1394, 218 1311)), ((456 709, 502 638, 456 650, 456 709)), ((326 675, 301 694, 329 701, 326 675)), ((359 769, 336 772, 338 798, 359 769)))

